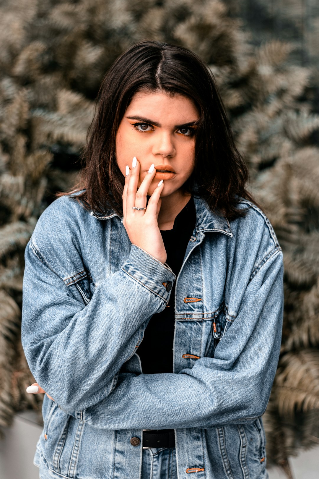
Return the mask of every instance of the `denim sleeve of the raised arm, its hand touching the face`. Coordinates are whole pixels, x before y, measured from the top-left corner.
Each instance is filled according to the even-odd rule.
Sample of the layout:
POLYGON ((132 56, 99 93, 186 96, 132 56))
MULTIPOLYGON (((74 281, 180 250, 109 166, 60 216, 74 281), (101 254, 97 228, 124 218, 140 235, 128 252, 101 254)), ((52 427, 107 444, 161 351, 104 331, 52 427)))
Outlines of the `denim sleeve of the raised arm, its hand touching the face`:
POLYGON ((147 320, 162 311, 175 280, 164 264, 132 245, 119 271, 96 286, 85 306, 76 289, 28 243, 25 251, 22 346, 39 385, 61 408, 80 411, 115 387, 147 320), (150 294, 151 293, 151 294, 150 294))

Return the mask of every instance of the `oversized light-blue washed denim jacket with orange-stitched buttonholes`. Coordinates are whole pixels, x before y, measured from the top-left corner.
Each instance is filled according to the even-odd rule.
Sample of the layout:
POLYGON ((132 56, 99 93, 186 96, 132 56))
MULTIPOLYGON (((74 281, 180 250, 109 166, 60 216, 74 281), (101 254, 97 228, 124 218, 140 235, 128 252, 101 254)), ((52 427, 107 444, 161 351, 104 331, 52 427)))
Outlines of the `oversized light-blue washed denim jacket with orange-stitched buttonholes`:
POLYGON ((281 341, 281 248, 248 201, 231 223, 194 203, 177 279, 112 210, 64 196, 40 217, 25 251, 22 344, 55 399, 44 395, 41 479, 138 479, 142 430, 168 428, 178 479, 267 478, 261 416, 281 341), (146 375, 136 348, 175 280, 174 373, 146 375))

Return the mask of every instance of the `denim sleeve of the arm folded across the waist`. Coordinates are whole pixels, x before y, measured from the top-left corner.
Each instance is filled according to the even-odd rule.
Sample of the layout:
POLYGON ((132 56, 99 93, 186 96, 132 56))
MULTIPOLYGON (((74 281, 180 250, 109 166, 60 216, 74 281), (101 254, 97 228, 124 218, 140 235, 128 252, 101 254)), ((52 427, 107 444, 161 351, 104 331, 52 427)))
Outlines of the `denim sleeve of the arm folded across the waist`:
POLYGON ((283 261, 279 250, 246 287, 237 318, 216 347, 178 374, 121 374, 116 388, 83 411, 97 428, 209 428, 261 416, 279 358, 283 261))

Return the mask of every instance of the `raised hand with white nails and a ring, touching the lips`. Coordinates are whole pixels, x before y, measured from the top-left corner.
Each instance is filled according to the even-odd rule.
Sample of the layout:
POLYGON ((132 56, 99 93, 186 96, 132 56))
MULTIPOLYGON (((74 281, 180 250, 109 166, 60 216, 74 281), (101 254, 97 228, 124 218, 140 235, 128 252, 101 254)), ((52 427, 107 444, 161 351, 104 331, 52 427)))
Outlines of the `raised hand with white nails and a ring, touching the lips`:
POLYGON ((160 194, 164 188, 163 181, 160 182, 160 186, 155 187, 154 192, 148 200, 146 210, 132 209, 133 206, 138 208, 144 208, 146 206, 146 195, 156 174, 154 165, 152 166, 153 170, 146 173, 139 188, 140 162, 135 160, 134 157, 132 168, 126 167, 126 177, 122 195, 123 225, 132 244, 139 246, 154 256, 156 260, 164 264, 167 254, 157 223, 162 203, 160 194), (134 163, 136 163, 136 166, 134 166, 134 163))

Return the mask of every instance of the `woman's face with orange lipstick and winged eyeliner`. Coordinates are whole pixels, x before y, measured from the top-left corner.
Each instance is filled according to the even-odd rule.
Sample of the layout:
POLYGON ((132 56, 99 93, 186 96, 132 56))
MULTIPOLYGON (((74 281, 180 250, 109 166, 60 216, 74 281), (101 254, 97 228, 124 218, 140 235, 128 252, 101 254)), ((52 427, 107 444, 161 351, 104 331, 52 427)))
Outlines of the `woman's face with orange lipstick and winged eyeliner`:
POLYGON ((140 162, 140 186, 154 163, 156 175, 148 190, 152 194, 164 179, 162 197, 175 193, 194 168, 198 110, 187 97, 164 92, 138 92, 128 106, 116 135, 116 158, 125 175, 135 156, 140 162), (158 170, 169 169, 171 172, 158 170))

